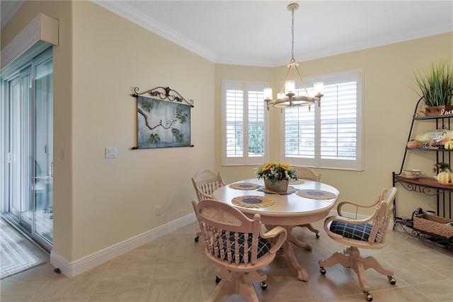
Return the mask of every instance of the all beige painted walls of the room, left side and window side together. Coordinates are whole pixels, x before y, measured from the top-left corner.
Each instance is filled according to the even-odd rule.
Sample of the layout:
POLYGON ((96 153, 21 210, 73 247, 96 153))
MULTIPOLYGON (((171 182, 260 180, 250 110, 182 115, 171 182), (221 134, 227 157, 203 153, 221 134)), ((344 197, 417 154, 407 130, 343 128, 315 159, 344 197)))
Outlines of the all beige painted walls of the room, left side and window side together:
MULTIPOLYGON (((54 47, 57 254, 79 260, 190 214, 195 198, 190 178, 202 168, 220 170, 226 182, 255 177, 254 167, 220 164, 220 82, 269 81, 276 88, 285 67, 213 64, 89 1, 26 2, 1 31, 1 47, 38 13, 59 19, 54 47), (141 91, 170 86, 195 101, 194 148, 131 150, 137 144, 134 86, 141 91), (107 146, 117 147, 117 158, 104 158, 107 146), (161 216, 155 216, 157 205, 161 216)), ((380 188, 391 186, 418 100, 410 88, 411 72, 451 57, 452 40, 448 33, 302 62, 303 76, 365 71, 365 170, 319 170, 324 182, 338 187, 340 199, 368 203, 380 188)), ((270 158, 277 159, 280 110, 271 110, 270 158)), ((412 168, 430 175, 433 160, 410 159, 412 168)), ((413 207, 406 206, 404 214, 413 207)))

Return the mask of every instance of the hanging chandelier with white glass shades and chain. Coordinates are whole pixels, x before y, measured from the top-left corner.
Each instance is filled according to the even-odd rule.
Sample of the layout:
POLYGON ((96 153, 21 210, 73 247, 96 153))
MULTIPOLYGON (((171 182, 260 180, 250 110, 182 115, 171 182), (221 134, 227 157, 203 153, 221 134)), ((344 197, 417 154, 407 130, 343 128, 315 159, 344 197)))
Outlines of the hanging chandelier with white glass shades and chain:
MULTIPOLYGON (((272 88, 264 88, 264 100, 268 105, 273 105, 277 108, 287 108, 287 107, 302 107, 302 106, 311 106, 317 101, 318 106, 321 102, 321 97, 323 96, 323 83, 317 82, 314 83, 314 96, 309 96, 308 91, 306 90, 304 80, 302 80, 302 76, 300 75, 299 63, 296 63, 294 60, 294 11, 299 8, 299 4, 293 3, 287 6, 288 11, 291 11, 291 35, 292 35, 292 50, 291 50, 291 61, 287 64, 288 72, 285 77, 284 85, 280 90, 280 93, 277 93, 277 98, 273 100, 272 88), (299 80, 302 83, 302 86, 305 89, 306 95, 295 95, 296 92, 296 83, 294 81, 294 74, 299 76, 299 80)), ((309 107, 310 109, 310 107, 309 107)))

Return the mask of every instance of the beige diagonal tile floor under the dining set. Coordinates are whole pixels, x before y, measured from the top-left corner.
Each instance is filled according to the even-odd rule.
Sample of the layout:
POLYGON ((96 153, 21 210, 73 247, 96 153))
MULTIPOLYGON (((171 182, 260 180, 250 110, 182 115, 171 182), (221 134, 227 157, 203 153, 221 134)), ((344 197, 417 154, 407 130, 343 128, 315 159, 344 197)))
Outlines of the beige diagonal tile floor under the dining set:
MULTIPOLYGON (((321 222, 315 226, 322 229, 321 222)), ((0 281, 0 301, 208 301, 216 286, 214 271, 205 258, 203 240, 194 241, 196 230, 190 223, 72 278, 56 274, 49 264, 29 269, 0 281)), ((319 239, 306 228, 295 228, 294 233, 313 245, 311 251, 294 248, 310 279, 299 281, 285 255, 279 255, 263 269, 268 289, 255 284, 261 301, 365 301, 350 269, 336 265, 326 268, 324 276, 319 273, 318 260, 343 250, 342 245, 323 231, 319 239)), ((373 269, 365 272, 373 301, 453 301, 453 250, 408 238, 404 232, 391 231, 387 238, 383 250, 362 251, 395 272, 395 285, 373 269)), ((233 295, 222 301, 243 298, 233 295)))

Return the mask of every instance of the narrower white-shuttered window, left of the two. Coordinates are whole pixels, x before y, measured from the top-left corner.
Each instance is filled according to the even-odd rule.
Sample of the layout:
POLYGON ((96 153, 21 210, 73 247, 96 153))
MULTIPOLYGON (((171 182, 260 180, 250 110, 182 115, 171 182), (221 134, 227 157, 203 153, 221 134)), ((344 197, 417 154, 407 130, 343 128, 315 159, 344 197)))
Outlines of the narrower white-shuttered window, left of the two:
POLYGON ((222 81, 222 165, 256 165, 266 158, 265 83, 222 81))

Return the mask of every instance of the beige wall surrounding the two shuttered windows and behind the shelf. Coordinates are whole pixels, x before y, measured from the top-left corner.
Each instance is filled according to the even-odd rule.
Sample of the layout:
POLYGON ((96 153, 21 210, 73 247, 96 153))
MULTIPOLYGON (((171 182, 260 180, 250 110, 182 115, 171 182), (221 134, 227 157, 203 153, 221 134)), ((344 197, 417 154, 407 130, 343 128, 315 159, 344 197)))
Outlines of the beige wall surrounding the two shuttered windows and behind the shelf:
MULTIPOLYGON (((352 69, 364 70, 364 147, 365 170, 361 172, 345 170, 315 169, 322 174, 321 180, 340 190, 341 200, 352 200, 368 204, 383 187, 391 187, 392 171, 399 172, 403 159, 406 139, 411 127, 411 118, 418 95, 411 75, 415 69, 424 69, 432 61, 452 58, 453 33, 435 35, 423 39, 375 47, 369 50, 350 52, 333 57, 301 62, 302 76, 332 74, 352 69)), ((219 82, 222 79, 243 78, 244 67, 231 65, 216 66, 216 103, 220 107, 219 82)), ((274 91, 279 90, 287 68, 275 68, 272 74, 262 69, 247 67, 249 81, 270 81, 274 91)), ((322 100, 321 100, 322 106, 322 100)), ((217 108, 216 107, 216 108, 217 108)), ((216 110, 216 140, 221 134, 220 112, 216 110)), ((270 141, 275 141, 270 149, 270 159, 280 159, 278 148, 280 135, 280 110, 270 108, 270 141)), ((422 129, 435 127, 434 124, 421 123, 414 128, 415 133, 422 129), (425 128, 423 128, 425 127, 425 128)), ((219 141, 220 142, 220 141, 219 141)), ((253 167, 222 167, 221 145, 215 146, 215 166, 225 175, 226 180, 234 181, 253 178, 253 167)), ((408 155, 405 168, 420 168, 423 175, 432 175, 431 165, 435 153, 418 152, 408 155), (428 158, 425 159, 424 157, 428 158)), ((398 185, 397 209, 399 215, 410 216, 417 207, 435 209, 434 199, 424 202, 423 194, 406 194, 398 185)), ((369 214, 364 211, 361 214, 369 214)))

